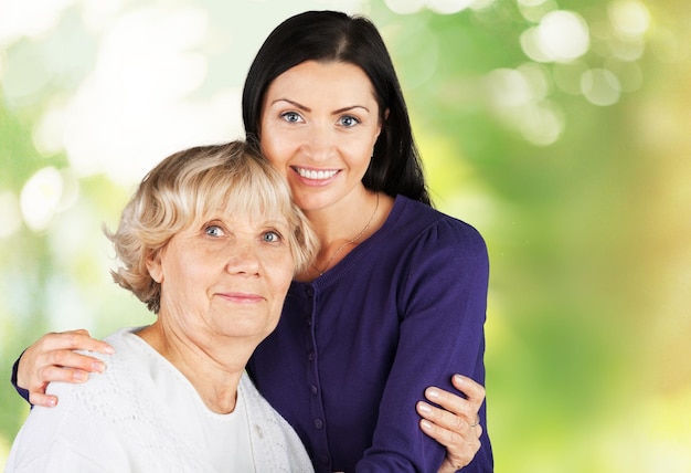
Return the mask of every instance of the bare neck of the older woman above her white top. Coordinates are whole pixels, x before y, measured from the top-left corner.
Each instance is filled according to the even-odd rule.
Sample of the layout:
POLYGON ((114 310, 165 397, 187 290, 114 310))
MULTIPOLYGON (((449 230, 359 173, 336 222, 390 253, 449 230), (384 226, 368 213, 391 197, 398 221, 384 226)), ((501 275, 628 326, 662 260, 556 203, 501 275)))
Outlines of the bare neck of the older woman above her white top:
POLYGON ((255 346, 230 343, 201 346, 167 329, 160 322, 137 335, 184 375, 211 411, 235 410, 237 386, 255 346))

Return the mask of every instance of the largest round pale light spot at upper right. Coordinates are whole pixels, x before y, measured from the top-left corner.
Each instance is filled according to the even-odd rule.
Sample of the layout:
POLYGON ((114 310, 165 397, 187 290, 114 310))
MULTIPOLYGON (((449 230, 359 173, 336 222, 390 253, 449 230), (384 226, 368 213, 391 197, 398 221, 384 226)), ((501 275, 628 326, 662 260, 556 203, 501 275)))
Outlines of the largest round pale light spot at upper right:
POLYGON ((535 43, 549 61, 571 61, 589 48, 588 27, 577 13, 564 10, 545 14, 535 31, 535 43))

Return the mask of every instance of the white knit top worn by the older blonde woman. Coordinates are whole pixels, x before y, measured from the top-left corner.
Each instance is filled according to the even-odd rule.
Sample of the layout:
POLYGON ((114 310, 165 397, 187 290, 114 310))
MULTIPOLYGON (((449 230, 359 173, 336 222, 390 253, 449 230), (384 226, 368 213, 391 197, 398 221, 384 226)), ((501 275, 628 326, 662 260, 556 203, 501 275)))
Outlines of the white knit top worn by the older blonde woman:
POLYGON ((115 355, 89 354, 106 362, 103 375, 49 387, 59 404, 32 409, 7 473, 313 471, 297 434, 247 375, 235 411, 216 414, 132 330, 106 338, 115 355))

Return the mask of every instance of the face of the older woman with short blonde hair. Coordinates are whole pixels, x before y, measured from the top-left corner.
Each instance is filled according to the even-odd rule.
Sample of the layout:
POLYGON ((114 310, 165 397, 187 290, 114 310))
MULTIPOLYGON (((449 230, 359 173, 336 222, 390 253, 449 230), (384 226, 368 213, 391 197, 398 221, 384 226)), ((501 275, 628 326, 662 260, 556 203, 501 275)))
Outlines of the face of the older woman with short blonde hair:
POLYGON ((160 320, 200 343, 222 335, 258 344, 276 327, 293 278, 288 231, 286 221, 220 212, 176 234, 149 262, 160 320))

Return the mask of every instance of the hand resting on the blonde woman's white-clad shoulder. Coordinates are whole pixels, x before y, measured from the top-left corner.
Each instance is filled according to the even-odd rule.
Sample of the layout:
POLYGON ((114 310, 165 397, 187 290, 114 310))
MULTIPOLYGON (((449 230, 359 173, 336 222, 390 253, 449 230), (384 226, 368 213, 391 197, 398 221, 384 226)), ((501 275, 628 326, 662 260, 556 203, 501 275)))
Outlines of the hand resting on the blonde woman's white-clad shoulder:
POLYGON ((89 372, 106 369, 103 361, 74 350, 114 353, 110 345, 92 338, 84 329, 44 335, 26 348, 17 369, 17 386, 29 391, 29 402, 55 407, 57 398, 45 393, 49 382, 84 382, 89 372))

